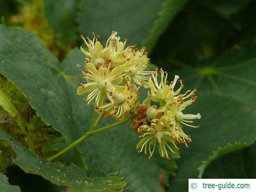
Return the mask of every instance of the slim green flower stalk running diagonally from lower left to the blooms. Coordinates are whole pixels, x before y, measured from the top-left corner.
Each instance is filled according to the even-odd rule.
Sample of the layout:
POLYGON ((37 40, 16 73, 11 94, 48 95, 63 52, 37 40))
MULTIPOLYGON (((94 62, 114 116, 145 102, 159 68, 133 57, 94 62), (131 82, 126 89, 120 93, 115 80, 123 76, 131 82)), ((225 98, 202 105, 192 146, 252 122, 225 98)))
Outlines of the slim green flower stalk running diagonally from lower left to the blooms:
POLYGON ((66 148, 64 148, 62 151, 58 152, 57 154, 53 155, 52 157, 49 157, 47 160, 48 161, 51 161, 51 160, 54 160, 58 157, 60 157, 61 155, 67 153, 67 151, 69 151, 70 149, 74 148, 76 145, 78 145, 79 143, 81 143, 82 141, 84 141, 85 139, 87 139, 88 137, 90 137, 91 135, 93 134, 96 134, 100 131, 104 131, 106 129, 109 129, 111 127, 115 127, 117 125, 120 125, 122 123, 125 123, 125 122, 128 122, 129 118, 126 118, 126 119, 123 119, 121 121, 118 121, 118 122, 115 122, 115 123, 112 123, 110 125, 106 125, 102 128, 98 128, 96 130, 89 130, 87 133, 85 133, 82 137, 80 137, 78 140, 74 141, 73 143, 71 143, 69 146, 67 146, 66 148))

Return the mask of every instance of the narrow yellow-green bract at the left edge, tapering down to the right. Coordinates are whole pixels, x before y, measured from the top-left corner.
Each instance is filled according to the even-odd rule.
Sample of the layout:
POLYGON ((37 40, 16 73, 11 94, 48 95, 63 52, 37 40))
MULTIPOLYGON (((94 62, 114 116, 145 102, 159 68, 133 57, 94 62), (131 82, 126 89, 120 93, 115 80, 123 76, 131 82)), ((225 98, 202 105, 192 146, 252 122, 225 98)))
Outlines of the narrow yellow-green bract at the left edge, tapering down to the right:
POLYGON ((0 87, 0 97, 0 106, 2 106, 12 117, 17 117, 17 124, 20 126, 23 134, 26 135, 30 150, 35 152, 33 140, 30 137, 29 132, 26 130, 26 120, 20 115, 15 105, 13 105, 12 100, 6 96, 6 93, 4 93, 2 87, 0 87))

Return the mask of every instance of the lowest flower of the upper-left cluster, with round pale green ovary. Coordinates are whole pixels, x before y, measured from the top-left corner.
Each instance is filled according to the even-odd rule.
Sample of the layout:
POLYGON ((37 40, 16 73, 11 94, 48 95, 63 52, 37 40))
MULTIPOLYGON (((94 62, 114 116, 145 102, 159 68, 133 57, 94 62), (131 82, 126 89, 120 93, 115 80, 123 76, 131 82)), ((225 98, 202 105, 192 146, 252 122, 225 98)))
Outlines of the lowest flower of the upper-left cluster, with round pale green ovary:
POLYGON ((103 112, 104 116, 115 116, 121 119, 126 116, 132 107, 135 100, 138 98, 137 87, 132 89, 130 86, 125 87, 123 92, 111 92, 113 102, 109 102, 103 106, 96 106, 96 110, 103 112))

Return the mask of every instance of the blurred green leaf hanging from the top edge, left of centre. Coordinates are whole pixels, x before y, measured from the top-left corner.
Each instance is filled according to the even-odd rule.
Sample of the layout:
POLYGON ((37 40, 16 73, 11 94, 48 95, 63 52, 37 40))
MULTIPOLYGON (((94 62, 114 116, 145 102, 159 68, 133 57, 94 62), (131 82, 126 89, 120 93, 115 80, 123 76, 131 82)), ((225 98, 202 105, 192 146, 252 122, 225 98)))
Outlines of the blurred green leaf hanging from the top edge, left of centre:
POLYGON ((75 45, 79 37, 77 13, 80 0, 44 0, 45 17, 49 26, 63 45, 75 45))

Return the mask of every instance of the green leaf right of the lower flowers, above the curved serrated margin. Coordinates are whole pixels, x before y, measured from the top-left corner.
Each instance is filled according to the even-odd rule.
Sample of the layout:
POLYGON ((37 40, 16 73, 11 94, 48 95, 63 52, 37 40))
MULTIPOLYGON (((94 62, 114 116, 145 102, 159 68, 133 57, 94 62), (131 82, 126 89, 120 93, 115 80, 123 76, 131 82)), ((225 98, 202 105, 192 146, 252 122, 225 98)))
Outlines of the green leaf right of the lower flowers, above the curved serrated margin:
POLYGON ((189 143, 188 149, 180 150, 179 169, 170 181, 176 192, 187 191, 188 179, 198 177, 198 167, 212 156, 212 151, 227 143, 250 144, 256 138, 256 116, 244 108, 242 102, 211 92, 201 91, 197 95, 198 99, 188 108, 188 113, 201 113, 200 128, 185 130, 191 135, 192 143, 189 143))

